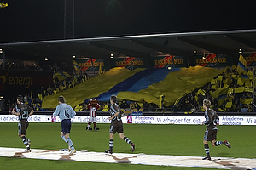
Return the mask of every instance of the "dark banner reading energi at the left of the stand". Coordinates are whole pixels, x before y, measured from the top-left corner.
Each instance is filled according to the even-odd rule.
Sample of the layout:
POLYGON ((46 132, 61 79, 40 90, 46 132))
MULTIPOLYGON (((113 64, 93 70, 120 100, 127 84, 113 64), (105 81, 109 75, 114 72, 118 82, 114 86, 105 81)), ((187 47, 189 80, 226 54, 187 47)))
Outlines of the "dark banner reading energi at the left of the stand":
MULTIPOLYGON (((40 92, 52 82, 53 72, 45 71, 0 71, 0 94, 11 99, 18 94, 30 94, 30 91, 40 92)), ((44 93, 44 92, 42 92, 44 93)))

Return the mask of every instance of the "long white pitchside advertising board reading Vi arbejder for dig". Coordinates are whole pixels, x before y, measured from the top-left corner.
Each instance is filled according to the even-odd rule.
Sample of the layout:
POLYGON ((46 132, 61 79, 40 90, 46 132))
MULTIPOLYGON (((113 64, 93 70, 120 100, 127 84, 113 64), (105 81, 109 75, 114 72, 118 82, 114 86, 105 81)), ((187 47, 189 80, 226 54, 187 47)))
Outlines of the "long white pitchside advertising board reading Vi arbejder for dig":
MULTIPOLYGON (((90 116, 74 116, 72 122, 88 123, 90 116)), ((98 123, 110 123, 109 116, 97 116, 98 123)), ((50 115, 32 115, 29 122, 53 122, 50 115)), ((124 116, 123 123, 201 125, 204 116, 124 116)), ((19 122, 18 116, 0 115, 0 122, 19 122)), ((57 116, 54 122, 61 122, 57 116)), ((256 125, 256 116, 219 116, 219 125, 256 125)))

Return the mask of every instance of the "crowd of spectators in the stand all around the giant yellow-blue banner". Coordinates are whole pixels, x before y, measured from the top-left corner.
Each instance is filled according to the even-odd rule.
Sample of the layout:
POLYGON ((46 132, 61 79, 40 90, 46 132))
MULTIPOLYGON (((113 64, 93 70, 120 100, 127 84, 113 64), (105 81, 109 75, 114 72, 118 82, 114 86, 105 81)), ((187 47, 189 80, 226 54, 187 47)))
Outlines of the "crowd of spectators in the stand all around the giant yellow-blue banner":
MULTIPOLYGON (((27 69, 27 70, 36 70, 36 71, 45 71, 54 69, 61 70, 63 68, 55 68, 53 65, 25 65, 24 63, 12 63, 7 64, 6 67, 12 69, 27 69)), ((67 77, 64 80, 54 79, 53 83, 45 88, 44 93, 38 94, 38 96, 27 95, 26 102, 31 105, 35 111, 44 111, 45 109, 41 108, 42 99, 44 96, 50 94, 57 94, 69 88, 75 87, 77 84, 84 82, 88 79, 86 73, 71 72, 70 77, 67 77)), ((138 103, 137 101, 120 101, 119 105, 121 108, 130 108, 130 109, 141 109, 144 111, 203 111, 202 100, 210 99, 212 102, 212 109, 215 111, 226 111, 226 112, 242 112, 242 111, 253 111, 253 71, 247 71, 247 77, 241 77, 237 72, 236 68, 227 67, 223 74, 214 77, 211 82, 207 82, 201 88, 196 88, 192 93, 186 94, 182 99, 179 100, 177 105, 162 106, 159 108, 158 105, 148 104, 147 102, 138 103)), ((100 102, 99 111, 106 110, 106 102, 100 102)), ((83 103, 77 105, 74 109, 76 111, 88 111, 87 104, 83 103)), ((47 110, 47 109, 46 109, 47 110)))

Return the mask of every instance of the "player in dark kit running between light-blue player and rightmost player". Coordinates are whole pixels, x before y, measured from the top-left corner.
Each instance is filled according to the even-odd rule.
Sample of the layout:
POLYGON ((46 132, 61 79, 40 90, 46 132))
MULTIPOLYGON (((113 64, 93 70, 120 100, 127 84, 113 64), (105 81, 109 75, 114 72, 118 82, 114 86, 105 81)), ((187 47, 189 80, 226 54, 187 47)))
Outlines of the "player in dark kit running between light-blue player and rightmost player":
POLYGON ((119 133, 120 139, 124 139, 126 143, 131 145, 131 151, 133 152, 135 150, 135 144, 131 142, 130 139, 125 137, 124 135, 124 128, 123 128, 123 122, 122 122, 122 113, 119 105, 116 104, 117 97, 115 95, 112 95, 110 97, 110 116, 108 117, 108 120, 111 120, 110 129, 109 129, 109 150, 106 150, 106 153, 112 154, 113 153, 113 135, 117 132, 119 133))

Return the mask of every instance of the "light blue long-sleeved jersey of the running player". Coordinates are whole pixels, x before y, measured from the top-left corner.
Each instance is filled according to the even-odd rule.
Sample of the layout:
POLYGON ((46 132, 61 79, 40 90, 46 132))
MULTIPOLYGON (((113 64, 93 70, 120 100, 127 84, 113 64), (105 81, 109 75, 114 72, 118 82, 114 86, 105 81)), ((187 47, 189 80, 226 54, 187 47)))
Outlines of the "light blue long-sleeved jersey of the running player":
POLYGON ((71 119, 75 115, 76 112, 73 111, 73 108, 65 103, 57 105, 56 111, 53 113, 53 116, 59 116, 61 121, 63 121, 64 119, 71 119))

